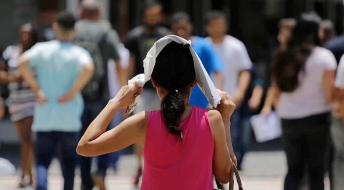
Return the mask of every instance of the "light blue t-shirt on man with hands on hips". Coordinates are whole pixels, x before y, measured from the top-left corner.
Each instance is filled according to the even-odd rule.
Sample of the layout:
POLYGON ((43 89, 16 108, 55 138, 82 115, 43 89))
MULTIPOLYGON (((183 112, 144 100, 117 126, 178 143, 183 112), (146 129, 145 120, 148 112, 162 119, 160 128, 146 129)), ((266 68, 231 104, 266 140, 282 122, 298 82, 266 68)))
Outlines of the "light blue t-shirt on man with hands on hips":
POLYGON ((92 63, 89 53, 73 43, 52 40, 37 43, 25 56, 47 97, 47 102, 35 106, 33 130, 78 132, 84 109, 81 93, 67 103, 58 103, 57 98, 73 87, 84 65, 92 63))

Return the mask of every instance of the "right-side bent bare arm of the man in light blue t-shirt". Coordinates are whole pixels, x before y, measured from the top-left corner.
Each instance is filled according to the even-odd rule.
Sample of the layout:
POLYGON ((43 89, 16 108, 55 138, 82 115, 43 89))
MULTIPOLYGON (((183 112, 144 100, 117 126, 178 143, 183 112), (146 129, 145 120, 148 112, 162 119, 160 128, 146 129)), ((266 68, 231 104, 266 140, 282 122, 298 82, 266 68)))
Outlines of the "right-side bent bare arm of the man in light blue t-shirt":
POLYGON ((83 70, 80 72, 73 87, 67 93, 63 94, 62 96, 59 96, 57 99, 58 102, 64 103, 64 102, 68 102, 72 100, 74 98, 74 95, 80 92, 84 88, 88 80, 91 78, 92 73, 93 73, 93 68, 94 66, 92 62, 84 64, 83 70))

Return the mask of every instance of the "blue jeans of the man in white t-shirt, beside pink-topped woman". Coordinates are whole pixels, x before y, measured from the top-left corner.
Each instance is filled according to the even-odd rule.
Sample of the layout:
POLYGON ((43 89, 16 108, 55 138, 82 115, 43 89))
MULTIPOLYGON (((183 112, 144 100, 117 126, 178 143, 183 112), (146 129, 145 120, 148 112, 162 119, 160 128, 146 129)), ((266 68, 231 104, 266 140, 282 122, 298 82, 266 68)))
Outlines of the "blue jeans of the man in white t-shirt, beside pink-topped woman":
POLYGON ((241 168, 244 155, 248 151, 251 143, 252 127, 250 123, 250 116, 242 115, 239 109, 235 110, 230 118, 230 132, 233 150, 237 156, 238 168, 241 168))

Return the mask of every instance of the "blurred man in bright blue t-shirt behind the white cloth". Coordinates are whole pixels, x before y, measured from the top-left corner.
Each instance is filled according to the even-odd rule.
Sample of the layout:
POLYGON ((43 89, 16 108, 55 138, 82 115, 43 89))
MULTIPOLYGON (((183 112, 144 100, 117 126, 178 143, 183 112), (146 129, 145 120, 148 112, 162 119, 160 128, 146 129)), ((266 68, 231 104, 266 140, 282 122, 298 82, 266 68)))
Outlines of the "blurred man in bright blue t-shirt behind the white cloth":
MULTIPOLYGON (((223 69, 222 61, 218 57, 210 41, 206 38, 191 36, 192 24, 189 15, 185 12, 174 13, 171 17, 171 29, 174 35, 192 41, 191 46, 201 59, 207 73, 210 76, 214 74, 213 80, 216 88, 221 89, 222 75, 220 71, 223 69)), ((201 108, 208 108, 209 106, 207 98, 197 85, 192 88, 190 104, 201 108)))

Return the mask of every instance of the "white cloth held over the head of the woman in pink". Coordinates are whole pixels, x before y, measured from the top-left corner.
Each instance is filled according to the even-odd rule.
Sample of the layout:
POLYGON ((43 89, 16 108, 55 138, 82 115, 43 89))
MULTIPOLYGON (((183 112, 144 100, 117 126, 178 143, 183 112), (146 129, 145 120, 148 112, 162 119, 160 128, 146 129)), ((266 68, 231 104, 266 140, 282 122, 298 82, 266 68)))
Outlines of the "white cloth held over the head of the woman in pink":
MULTIPOLYGON (((161 50, 172 41, 175 41, 177 43, 181 44, 189 44, 190 52, 193 57, 194 67, 195 67, 195 73, 196 73, 196 83, 208 99, 209 103, 216 108, 217 104, 220 103, 221 98, 218 95, 218 92, 215 88, 215 85, 213 81, 211 80, 210 76, 208 75, 207 71, 204 69, 204 66, 202 64, 202 61, 196 54, 195 50, 191 46, 191 40, 186 40, 184 38, 175 36, 175 35, 169 35, 165 36, 163 38, 160 38, 158 41, 156 41, 153 46, 148 51, 146 58, 143 60, 143 68, 144 68, 144 74, 139 74, 137 76, 134 76, 131 78, 128 82, 128 84, 132 84, 133 82, 136 82, 139 86, 143 87, 143 85, 151 79, 151 75, 153 73, 153 69, 155 66, 155 60, 161 50)), ((127 113, 132 112, 132 110, 135 108, 137 104, 139 96, 136 97, 135 102, 130 105, 127 108, 127 113)))

